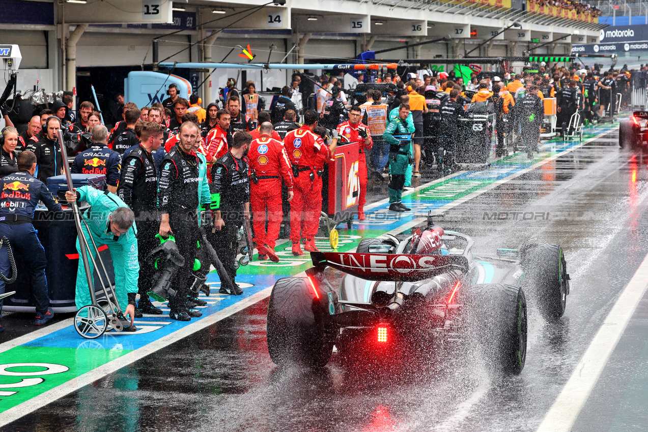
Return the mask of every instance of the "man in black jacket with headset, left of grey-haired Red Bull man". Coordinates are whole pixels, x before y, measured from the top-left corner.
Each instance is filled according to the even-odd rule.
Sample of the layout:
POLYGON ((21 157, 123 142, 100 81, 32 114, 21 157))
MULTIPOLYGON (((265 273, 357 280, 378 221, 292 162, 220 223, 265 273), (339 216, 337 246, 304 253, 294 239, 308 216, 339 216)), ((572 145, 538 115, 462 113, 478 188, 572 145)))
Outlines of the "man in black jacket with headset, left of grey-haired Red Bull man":
MULTIPOLYGON (((47 179, 61 175, 63 157, 58 149, 58 131, 61 129, 61 120, 57 116, 45 120, 43 134, 38 136, 38 141, 30 140, 27 150, 36 155, 36 177, 47 184, 47 179)), ((33 138, 33 137, 32 137, 33 138)))

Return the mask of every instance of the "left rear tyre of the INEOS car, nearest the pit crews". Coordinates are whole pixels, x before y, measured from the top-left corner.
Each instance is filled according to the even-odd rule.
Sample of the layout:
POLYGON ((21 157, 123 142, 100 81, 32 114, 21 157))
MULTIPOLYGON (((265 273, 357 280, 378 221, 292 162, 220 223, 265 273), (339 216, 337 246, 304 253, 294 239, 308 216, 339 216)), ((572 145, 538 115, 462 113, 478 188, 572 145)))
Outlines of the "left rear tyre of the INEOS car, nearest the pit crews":
MULTIPOLYGON (((328 284, 326 284, 328 285, 328 284)), ((306 277, 284 277, 272 288, 268 303, 268 353, 277 365, 324 367, 335 343, 327 332, 330 285, 314 288, 306 277)))

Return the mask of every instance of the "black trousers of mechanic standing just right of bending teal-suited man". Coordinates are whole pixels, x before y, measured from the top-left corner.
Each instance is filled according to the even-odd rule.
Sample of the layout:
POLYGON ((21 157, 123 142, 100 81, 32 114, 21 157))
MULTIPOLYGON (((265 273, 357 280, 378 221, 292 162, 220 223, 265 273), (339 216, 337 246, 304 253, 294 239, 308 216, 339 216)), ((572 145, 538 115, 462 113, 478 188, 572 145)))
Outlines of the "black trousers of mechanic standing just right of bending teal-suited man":
POLYGON ((139 306, 150 301, 147 292, 150 292, 153 285, 155 267, 152 263, 146 262, 146 257, 159 245, 156 234, 159 233, 160 221, 157 212, 136 212, 135 226, 137 226, 137 259, 139 261, 139 279, 137 279, 137 291, 139 292, 139 306))

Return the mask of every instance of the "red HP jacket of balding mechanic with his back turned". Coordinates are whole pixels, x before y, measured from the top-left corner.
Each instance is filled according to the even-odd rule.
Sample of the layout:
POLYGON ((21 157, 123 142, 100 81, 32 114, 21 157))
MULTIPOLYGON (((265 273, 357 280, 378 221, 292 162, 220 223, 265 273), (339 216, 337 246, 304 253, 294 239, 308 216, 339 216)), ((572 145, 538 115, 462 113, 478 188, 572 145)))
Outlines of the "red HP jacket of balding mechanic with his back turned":
POLYGON ((288 190, 292 189, 292 168, 281 141, 265 135, 253 140, 249 148, 248 160, 250 171, 257 180, 283 177, 288 190))

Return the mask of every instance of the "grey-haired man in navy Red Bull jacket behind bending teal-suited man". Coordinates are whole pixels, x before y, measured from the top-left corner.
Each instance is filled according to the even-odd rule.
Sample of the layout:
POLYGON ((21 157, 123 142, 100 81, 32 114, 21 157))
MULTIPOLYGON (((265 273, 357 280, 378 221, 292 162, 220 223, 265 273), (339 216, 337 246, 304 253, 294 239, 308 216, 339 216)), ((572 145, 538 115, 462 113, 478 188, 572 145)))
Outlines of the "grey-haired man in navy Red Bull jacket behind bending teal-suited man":
POLYGON ((79 153, 72 164, 73 174, 103 174, 108 191, 117 193, 121 172, 121 155, 108 148, 108 129, 104 125, 92 128, 92 147, 79 153))

